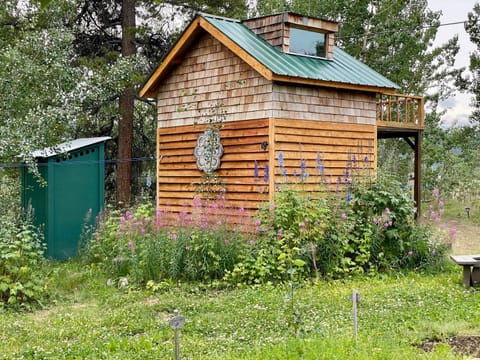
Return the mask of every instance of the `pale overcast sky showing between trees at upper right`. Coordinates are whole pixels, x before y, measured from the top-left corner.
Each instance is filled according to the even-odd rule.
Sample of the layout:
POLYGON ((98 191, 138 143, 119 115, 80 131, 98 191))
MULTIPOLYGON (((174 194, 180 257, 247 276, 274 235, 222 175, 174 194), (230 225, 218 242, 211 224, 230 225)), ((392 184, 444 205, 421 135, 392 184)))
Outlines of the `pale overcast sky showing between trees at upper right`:
MULTIPOLYGON (((473 6, 480 0, 428 0, 430 9, 441 10, 442 16, 440 22, 442 24, 466 21, 467 15, 472 11, 473 6)), ((457 67, 468 66, 469 54, 475 50, 474 45, 470 42, 469 37, 463 27, 463 24, 441 26, 438 30, 436 44, 445 43, 453 35, 458 34, 460 41, 460 52, 457 55, 455 65, 457 67)), ((448 99, 441 106, 447 110, 442 120, 446 124, 465 124, 468 122, 470 111, 470 96, 466 94, 457 94, 448 99)))

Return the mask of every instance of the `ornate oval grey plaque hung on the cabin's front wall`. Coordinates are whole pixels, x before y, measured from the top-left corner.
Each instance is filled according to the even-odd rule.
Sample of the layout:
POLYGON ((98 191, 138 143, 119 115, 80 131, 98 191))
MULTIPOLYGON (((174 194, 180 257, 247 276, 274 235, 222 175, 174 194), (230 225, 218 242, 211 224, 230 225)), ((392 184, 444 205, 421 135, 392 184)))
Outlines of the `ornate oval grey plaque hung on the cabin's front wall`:
POLYGON ((207 174, 220 167, 223 146, 220 143, 220 131, 207 128, 198 136, 197 146, 193 151, 197 158, 197 168, 207 174))

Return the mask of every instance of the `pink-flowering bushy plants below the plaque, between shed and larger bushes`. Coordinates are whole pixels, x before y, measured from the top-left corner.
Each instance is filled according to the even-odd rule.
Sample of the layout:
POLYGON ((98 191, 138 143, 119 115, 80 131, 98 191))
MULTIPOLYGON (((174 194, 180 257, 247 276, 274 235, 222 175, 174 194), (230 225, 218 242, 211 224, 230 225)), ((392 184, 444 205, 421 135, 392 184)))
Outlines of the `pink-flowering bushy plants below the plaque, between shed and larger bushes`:
POLYGON ((229 228, 217 203, 194 199, 193 211, 180 215, 155 211, 150 204, 133 211, 112 211, 83 252, 99 262, 118 284, 221 279, 243 251, 243 233, 229 228), (177 216, 177 220, 178 216, 177 216))

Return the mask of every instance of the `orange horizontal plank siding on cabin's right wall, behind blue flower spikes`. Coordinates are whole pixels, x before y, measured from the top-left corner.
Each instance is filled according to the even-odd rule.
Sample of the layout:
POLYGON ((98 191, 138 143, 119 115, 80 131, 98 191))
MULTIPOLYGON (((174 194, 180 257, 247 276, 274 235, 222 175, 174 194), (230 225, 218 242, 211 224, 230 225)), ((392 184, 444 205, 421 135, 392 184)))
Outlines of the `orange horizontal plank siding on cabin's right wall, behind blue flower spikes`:
POLYGON ((319 190, 323 183, 335 190, 339 178, 344 183, 347 167, 352 176, 372 176, 376 166, 375 138, 374 125, 276 119, 275 181, 299 183, 302 161, 309 174, 304 181, 307 191, 319 190), (278 162, 280 151, 283 168, 278 162), (319 165, 324 166, 323 174, 319 165))

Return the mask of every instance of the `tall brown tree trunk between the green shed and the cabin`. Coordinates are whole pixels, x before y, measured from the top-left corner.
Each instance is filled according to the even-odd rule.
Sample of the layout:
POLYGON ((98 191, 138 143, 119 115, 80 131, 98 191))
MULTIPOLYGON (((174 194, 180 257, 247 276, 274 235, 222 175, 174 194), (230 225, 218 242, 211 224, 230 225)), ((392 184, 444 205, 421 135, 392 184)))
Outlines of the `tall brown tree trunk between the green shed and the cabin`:
MULTIPOLYGON (((122 0, 122 56, 136 53, 135 45, 136 0, 122 0)), ((133 157, 133 108, 135 90, 126 88, 120 95, 120 123, 118 129, 117 202, 126 206, 131 200, 133 157)))

